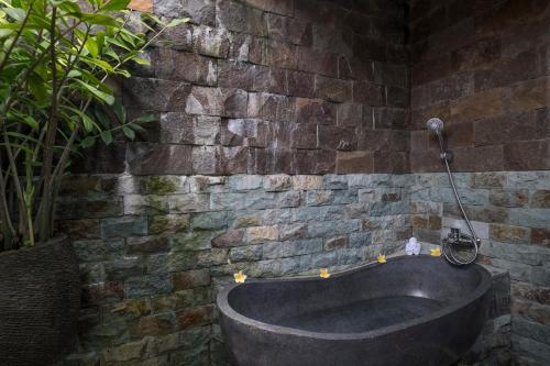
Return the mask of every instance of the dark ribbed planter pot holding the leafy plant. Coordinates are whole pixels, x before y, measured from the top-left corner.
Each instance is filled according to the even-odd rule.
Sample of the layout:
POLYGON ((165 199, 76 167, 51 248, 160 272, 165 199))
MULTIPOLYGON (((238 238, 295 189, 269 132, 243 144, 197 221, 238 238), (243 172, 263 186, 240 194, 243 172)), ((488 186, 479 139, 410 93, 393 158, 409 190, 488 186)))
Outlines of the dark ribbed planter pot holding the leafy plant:
POLYGON ((53 365, 73 350, 80 308, 68 241, 0 253, 0 365, 53 365))

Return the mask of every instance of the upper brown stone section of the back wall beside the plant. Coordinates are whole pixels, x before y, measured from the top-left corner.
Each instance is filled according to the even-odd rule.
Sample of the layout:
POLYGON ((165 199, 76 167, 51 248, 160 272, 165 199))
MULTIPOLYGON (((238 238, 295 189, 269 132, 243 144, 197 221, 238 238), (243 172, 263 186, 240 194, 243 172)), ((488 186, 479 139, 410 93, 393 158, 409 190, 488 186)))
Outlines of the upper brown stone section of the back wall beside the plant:
POLYGON ((98 147, 85 171, 408 170, 405 1, 157 0, 154 12, 191 19, 121 87, 160 122, 98 147))

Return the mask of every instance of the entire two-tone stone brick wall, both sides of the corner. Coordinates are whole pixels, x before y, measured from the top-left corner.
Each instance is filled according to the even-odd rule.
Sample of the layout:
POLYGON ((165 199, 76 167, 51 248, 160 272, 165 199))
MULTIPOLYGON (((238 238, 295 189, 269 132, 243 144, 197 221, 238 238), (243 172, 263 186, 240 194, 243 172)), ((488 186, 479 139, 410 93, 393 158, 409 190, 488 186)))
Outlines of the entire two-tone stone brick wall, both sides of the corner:
MULTIPOLYGON (((92 175, 63 187, 58 229, 84 284, 80 345, 64 364, 224 365, 213 293, 234 270, 336 270, 411 232, 439 243, 463 222, 437 173, 432 115, 466 171, 482 259, 510 271, 514 358, 548 364, 549 8, 155 1, 157 15, 191 22, 121 93, 158 122, 138 142, 96 146, 80 166, 92 175)), ((466 362, 509 358, 509 319, 493 314, 466 362)))

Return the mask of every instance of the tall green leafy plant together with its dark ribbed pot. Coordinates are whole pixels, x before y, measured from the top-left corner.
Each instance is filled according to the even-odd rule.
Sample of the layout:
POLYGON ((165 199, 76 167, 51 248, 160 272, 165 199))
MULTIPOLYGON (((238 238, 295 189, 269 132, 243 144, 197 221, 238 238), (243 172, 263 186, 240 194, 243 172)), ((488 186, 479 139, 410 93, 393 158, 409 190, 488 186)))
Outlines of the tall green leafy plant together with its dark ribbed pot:
POLYGON ((54 233, 72 157, 116 131, 133 140, 111 81, 166 29, 130 0, 0 0, 0 365, 51 365, 76 340, 78 265, 54 233))

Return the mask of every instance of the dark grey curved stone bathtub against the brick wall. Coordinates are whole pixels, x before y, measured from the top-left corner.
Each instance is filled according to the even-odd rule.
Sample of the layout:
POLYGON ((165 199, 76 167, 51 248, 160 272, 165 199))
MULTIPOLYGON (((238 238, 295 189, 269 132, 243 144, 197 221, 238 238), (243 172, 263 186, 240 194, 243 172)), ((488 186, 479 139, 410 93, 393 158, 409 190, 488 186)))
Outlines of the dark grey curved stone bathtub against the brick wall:
POLYGON ((474 343, 490 290, 483 267, 421 255, 233 284, 217 302, 239 366, 443 366, 474 343))

